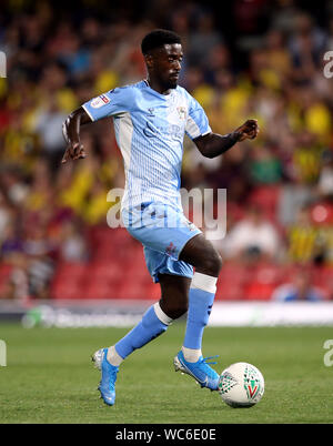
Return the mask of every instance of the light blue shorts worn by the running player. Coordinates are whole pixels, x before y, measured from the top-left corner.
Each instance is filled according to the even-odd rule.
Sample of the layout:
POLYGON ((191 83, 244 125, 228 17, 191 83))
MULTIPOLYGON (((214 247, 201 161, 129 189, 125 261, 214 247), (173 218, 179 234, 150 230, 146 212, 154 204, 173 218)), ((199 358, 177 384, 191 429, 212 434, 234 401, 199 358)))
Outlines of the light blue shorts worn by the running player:
POLYGON ((201 231, 181 210, 163 203, 142 203, 122 210, 122 220, 129 233, 143 244, 145 264, 154 282, 159 282, 159 274, 192 278, 192 265, 179 261, 179 256, 201 231))

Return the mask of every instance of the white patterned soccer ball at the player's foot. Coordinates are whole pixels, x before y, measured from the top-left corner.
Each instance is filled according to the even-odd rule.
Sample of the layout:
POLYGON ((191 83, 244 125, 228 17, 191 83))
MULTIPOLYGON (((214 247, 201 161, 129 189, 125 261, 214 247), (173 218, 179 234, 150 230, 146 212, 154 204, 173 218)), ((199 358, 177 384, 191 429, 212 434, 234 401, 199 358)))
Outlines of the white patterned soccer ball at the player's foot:
POLYGON ((252 364, 235 363, 220 375, 219 394, 231 407, 251 407, 264 393, 264 378, 252 364))

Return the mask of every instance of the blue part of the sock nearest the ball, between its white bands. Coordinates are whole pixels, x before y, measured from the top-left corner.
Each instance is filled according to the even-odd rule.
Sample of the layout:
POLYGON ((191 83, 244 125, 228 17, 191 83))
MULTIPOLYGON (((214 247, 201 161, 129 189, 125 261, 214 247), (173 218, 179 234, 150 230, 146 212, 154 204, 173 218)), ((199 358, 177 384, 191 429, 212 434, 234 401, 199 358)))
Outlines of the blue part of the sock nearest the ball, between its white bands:
POLYGON ((201 349, 203 331, 208 324, 214 297, 214 293, 190 288, 184 347, 201 349))

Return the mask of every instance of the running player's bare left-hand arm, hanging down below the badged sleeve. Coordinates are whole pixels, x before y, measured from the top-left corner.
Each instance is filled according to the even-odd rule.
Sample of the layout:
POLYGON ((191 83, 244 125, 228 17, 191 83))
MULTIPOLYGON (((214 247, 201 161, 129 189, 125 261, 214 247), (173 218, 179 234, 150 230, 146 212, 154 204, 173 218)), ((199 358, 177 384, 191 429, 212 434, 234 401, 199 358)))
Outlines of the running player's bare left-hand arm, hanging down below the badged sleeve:
POLYGON ((62 124, 62 134, 67 142, 67 149, 62 158, 62 163, 68 160, 79 160, 85 158, 83 145, 80 141, 81 125, 92 122, 85 110, 80 107, 74 110, 62 124))

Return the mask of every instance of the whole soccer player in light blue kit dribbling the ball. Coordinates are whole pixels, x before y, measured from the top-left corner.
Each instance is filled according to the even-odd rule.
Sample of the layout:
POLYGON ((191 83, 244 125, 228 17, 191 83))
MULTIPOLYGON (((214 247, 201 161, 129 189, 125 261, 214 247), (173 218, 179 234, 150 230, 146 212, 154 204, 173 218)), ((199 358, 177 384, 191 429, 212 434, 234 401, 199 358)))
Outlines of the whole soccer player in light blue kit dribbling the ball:
POLYGON ((259 132, 255 120, 225 135, 212 132, 202 107, 178 85, 183 58, 178 34, 154 30, 143 38, 141 49, 147 79, 88 101, 63 123, 65 163, 85 156, 80 142, 82 124, 113 118, 125 171, 122 219, 130 234, 142 243, 148 270, 161 286, 160 301, 141 322, 118 343, 93 355, 101 369, 99 391, 110 406, 115 401, 114 385, 123 359, 165 332, 186 311, 183 345, 173 359, 175 371, 192 376, 201 387, 218 389, 219 374, 209 365, 209 358, 202 357, 201 347, 222 262, 213 245, 183 214, 183 138, 186 133, 203 156, 215 158, 259 132))

